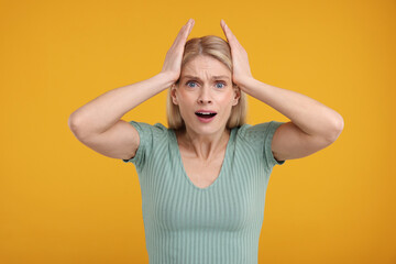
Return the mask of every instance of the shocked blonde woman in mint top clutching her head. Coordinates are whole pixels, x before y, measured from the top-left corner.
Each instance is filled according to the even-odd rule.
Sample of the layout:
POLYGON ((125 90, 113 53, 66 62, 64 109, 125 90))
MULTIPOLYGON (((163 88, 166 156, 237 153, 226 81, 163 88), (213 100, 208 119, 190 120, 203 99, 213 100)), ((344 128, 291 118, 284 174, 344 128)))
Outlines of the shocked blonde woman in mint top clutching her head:
POLYGON ((189 20, 158 75, 110 90, 69 118, 85 145, 135 165, 150 263, 257 263, 273 167, 324 148, 343 129, 328 107, 254 79, 246 52, 220 24, 228 42, 186 43, 189 20), (169 128, 121 120, 168 87, 169 128), (245 124, 244 92, 292 121, 245 124))

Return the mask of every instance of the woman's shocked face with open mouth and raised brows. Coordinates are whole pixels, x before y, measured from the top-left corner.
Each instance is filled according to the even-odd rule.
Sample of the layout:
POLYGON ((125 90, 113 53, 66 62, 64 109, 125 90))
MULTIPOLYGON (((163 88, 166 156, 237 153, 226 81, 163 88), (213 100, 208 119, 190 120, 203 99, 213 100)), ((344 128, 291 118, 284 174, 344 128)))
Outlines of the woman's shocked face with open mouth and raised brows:
POLYGON ((240 92, 230 69, 210 56, 197 56, 182 69, 172 100, 179 107, 187 130, 197 134, 223 132, 240 92))

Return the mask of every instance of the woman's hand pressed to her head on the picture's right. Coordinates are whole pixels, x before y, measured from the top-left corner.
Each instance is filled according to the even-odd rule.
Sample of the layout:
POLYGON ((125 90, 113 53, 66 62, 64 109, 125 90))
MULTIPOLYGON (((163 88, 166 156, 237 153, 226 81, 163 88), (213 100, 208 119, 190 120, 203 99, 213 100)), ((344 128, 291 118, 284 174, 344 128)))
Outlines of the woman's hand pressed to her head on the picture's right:
POLYGON ((220 25, 231 47, 233 67, 232 80, 242 89, 243 84, 246 82, 250 78, 253 78, 249 66, 248 53, 239 43, 235 35, 232 34, 230 28, 228 28, 223 20, 220 21, 220 25))

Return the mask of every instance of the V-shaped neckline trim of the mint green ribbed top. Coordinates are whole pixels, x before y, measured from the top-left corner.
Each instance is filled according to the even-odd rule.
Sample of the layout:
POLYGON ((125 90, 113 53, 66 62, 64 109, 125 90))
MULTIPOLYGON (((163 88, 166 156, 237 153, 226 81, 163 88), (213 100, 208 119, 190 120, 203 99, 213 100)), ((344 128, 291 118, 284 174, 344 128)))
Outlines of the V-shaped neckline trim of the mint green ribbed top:
POLYGON ((193 180, 188 177, 187 175, 187 170, 184 166, 184 163, 183 163, 183 158, 182 158, 182 153, 180 153, 180 148, 179 148, 179 145, 177 143, 177 136, 176 136, 176 132, 175 130, 172 130, 172 134, 173 134, 173 139, 174 139, 174 145, 175 145, 175 148, 176 148, 176 153, 177 153, 177 160, 178 160, 178 166, 182 167, 182 170, 183 170, 183 174, 185 176, 185 178, 187 179, 187 182, 193 185, 193 187, 195 189, 198 189, 198 190, 201 190, 201 191, 205 191, 205 190, 208 190, 208 189, 211 189, 215 185, 217 185, 217 183, 219 182, 219 179, 221 179, 222 175, 224 174, 224 167, 226 167, 226 163, 228 162, 228 157, 229 157, 229 152, 230 152, 230 145, 231 145, 231 142, 233 141, 233 134, 234 134, 234 129, 231 129, 230 131, 230 138, 227 142, 227 146, 226 146, 226 154, 224 154, 224 158, 222 161, 222 164, 221 164, 221 168, 220 168, 220 173, 219 175, 217 176, 217 178, 215 179, 213 183, 211 183, 211 185, 209 185, 208 187, 205 187, 205 188, 201 188, 201 187, 198 187, 196 186, 193 180))

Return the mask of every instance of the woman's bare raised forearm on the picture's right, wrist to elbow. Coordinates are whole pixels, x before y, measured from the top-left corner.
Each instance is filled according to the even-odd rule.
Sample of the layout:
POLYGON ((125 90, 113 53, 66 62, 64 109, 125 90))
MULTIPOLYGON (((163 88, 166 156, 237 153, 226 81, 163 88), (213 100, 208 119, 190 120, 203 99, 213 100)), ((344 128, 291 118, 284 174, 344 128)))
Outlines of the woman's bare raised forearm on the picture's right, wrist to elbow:
POLYGON ((338 112, 305 95, 266 85, 254 78, 240 86, 250 96, 290 119, 307 134, 334 139, 343 129, 343 119, 338 112))

